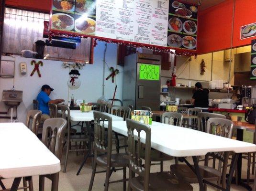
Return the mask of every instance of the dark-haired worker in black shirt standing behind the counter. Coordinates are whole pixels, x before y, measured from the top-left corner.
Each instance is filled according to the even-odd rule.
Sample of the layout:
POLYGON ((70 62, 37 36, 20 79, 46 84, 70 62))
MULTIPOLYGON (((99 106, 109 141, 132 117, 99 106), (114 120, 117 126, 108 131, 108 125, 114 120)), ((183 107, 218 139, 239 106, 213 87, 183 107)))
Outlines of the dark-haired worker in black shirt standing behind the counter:
POLYGON ((209 89, 203 89, 200 82, 195 84, 196 91, 191 99, 195 107, 209 107, 209 89))

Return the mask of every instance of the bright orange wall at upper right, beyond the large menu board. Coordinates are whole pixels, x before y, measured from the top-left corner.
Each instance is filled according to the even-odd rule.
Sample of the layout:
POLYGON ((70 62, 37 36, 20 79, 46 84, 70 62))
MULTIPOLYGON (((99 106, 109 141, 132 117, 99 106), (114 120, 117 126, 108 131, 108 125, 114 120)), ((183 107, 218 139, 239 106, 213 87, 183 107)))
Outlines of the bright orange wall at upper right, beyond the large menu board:
MULTIPOLYGON (((234 0, 225 0, 199 13, 198 53, 210 53, 231 46, 234 0)), ((240 28, 256 22, 255 0, 235 0, 233 47, 245 46, 256 37, 240 40, 240 28)))

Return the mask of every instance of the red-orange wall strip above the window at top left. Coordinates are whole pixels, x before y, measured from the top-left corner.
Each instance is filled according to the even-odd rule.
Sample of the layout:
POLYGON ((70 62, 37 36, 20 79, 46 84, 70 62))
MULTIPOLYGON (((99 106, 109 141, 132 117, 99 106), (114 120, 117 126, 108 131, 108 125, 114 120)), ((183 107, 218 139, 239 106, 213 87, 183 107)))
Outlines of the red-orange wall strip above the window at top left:
POLYGON ((6 0, 6 6, 50 13, 51 0, 6 0))

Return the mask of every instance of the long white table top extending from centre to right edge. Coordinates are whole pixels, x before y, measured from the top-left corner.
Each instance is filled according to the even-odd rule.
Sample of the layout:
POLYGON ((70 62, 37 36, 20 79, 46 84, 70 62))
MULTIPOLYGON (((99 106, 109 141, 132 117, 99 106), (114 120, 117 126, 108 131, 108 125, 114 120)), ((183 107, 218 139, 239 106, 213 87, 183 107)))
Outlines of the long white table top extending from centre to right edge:
MULTIPOLYGON (((105 123, 107 125, 107 122, 105 123)), ((223 138, 198 130, 155 121, 150 127, 151 147, 173 157, 202 156, 208 152, 220 151, 234 151, 235 153, 256 151, 254 144, 223 138)), ((112 130, 127 136, 126 121, 113 121, 112 130)), ((145 132, 141 133, 141 141, 145 143, 145 132)))

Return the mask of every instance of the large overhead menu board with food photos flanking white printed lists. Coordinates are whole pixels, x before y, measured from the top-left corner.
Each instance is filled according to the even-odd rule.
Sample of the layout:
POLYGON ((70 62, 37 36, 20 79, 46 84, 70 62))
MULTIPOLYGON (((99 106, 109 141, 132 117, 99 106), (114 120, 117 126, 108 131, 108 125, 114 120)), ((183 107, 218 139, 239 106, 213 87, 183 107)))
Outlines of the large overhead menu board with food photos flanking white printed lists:
POLYGON ((189 15, 190 18, 182 16, 184 10, 187 11, 186 7, 189 8, 189 5, 173 0, 52 0, 50 30, 150 46, 168 45, 171 48, 196 50, 197 7, 193 6, 192 11, 196 12, 189 15), (172 13, 175 15, 172 16, 172 13), (178 21, 182 29, 184 23, 187 34, 182 29, 175 30, 175 26, 170 24, 178 21), (170 44, 179 38, 174 36, 176 34, 181 38, 181 46, 170 44))

